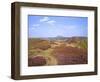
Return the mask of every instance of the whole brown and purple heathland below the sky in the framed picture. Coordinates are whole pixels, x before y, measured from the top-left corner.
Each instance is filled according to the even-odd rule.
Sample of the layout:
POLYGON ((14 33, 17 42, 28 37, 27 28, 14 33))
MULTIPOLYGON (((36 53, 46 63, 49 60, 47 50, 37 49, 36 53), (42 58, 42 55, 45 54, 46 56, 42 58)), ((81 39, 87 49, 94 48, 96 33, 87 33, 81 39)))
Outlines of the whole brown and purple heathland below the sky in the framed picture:
POLYGON ((86 37, 28 39, 28 66, 87 64, 86 37))

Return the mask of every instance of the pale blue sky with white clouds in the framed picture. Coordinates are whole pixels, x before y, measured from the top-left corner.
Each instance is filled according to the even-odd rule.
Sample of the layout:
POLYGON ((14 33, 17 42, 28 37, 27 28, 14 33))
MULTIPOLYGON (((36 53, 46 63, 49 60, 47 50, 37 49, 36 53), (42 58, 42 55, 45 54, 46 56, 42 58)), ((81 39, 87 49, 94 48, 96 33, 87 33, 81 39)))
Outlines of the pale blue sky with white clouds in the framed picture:
POLYGON ((87 17, 28 16, 28 37, 87 36, 87 17))

